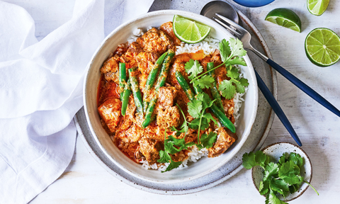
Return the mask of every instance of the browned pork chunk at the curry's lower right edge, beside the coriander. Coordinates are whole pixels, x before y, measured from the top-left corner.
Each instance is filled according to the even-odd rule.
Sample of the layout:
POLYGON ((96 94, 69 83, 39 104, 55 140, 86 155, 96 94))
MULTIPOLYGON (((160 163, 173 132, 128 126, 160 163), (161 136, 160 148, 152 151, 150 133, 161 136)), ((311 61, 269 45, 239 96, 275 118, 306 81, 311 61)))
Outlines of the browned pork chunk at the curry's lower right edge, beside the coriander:
POLYGON ((214 146, 208 149, 208 157, 218 157, 225 153, 235 140, 237 140, 237 135, 235 133, 230 132, 227 128, 218 128, 217 140, 214 146))

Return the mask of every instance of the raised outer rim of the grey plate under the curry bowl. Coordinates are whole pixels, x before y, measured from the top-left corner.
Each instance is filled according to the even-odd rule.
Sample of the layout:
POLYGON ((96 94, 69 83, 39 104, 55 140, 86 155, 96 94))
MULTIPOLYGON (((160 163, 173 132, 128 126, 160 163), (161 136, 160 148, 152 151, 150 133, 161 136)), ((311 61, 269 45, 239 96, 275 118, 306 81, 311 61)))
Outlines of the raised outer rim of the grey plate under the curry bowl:
MULTIPOLYGON (((244 13, 239 11, 237 8, 234 8, 234 9, 239 14, 239 18, 242 18, 244 23, 246 23, 249 26, 249 28, 251 28, 251 30, 254 31, 256 38, 258 38, 259 42, 261 42, 261 45, 263 47, 265 54, 269 58, 272 58, 271 52, 268 49, 268 45, 266 45, 266 41, 263 39, 259 30, 254 26, 253 23, 251 23, 249 18, 247 18, 244 15, 244 13)), ((277 91, 276 72, 273 72, 272 68, 270 69, 270 72, 271 72, 271 83, 273 83, 273 96, 274 96, 274 98, 277 98, 278 97, 278 91, 277 91)), ((109 166, 107 166, 107 164, 101 159, 101 157, 102 157, 101 154, 98 154, 96 152, 96 149, 92 149, 93 147, 90 145, 89 141, 86 140, 86 137, 88 137, 88 136, 84 135, 84 134, 89 135, 89 134, 91 134, 91 132, 88 132, 88 130, 86 130, 86 126, 88 126, 88 124, 86 124, 87 122, 86 122, 86 120, 84 120, 84 114, 85 113, 81 113, 81 112, 82 111, 79 111, 79 113, 77 113, 77 115, 74 117, 74 122, 75 122, 77 130, 79 132, 79 136, 81 137, 81 140, 84 142, 86 149, 89 150, 89 153, 91 154, 91 156, 94 157, 94 159, 101 166, 103 166, 103 169, 106 169, 106 171, 108 171, 111 175, 115 176, 116 179, 118 179, 119 181, 122 181, 122 182, 124 182, 124 183, 126 183, 126 184, 128 184, 128 185, 130 185, 134 188, 140 189, 142 191, 147 191, 147 192, 150 192, 150 193, 158 193, 158 194, 163 194, 163 195, 184 195, 184 194, 189 194, 189 193, 196 193, 196 192, 199 192, 199 191, 204 191, 208 188, 212 188, 212 187, 217 186, 218 184, 220 184, 224 181, 227 181, 227 179, 231 178, 232 176, 237 174, 237 172, 239 172, 239 171, 241 171, 241 169, 243 169, 242 165, 239 165, 236 168, 231 169, 229 171, 229 174, 225 174, 224 176, 221 176, 220 179, 212 180, 210 183, 203 184, 202 186, 197 186, 197 187, 194 187, 194 188, 179 189, 179 190, 164 190, 164 189, 158 189, 158 188, 154 188, 154 187, 144 186, 143 183, 135 183, 133 178, 128 178, 128 177, 122 176, 118 171, 113 171, 113 169, 111 169, 109 166), (83 129, 81 127, 84 127, 85 132, 83 131, 83 129)), ((274 116, 275 116, 275 114, 273 113, 273 110, 271 110, 270 114, 268 115, 268 120, 265 123, 266 125, 263 125, 266 128, 263 130, 262 136, 258 140, 259 142, 256 144, 256 147, 254 147, 254 149, 252 149, 250 151, 256 151, 256 150, 261 148, 261 145, 263 145, 263 142, 266 140, 266 137, 268 136, 268 133, 271 130, 271 125, 273 124, 274 116)))

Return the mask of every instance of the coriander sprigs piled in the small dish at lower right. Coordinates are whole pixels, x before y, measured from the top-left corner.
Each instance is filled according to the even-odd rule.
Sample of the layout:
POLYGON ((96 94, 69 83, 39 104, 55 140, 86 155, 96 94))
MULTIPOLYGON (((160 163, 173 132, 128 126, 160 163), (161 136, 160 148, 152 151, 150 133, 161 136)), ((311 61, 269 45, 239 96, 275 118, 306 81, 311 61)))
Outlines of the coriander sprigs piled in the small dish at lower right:
MULTIPOLYGON (((271 158, 263 154, 261 151, 244 153, 242 157, 242 165, 246 169, 251 169, 254 166, 263 168, 263 180, 259 184, 259 193, 266 196, 266 204, 283 204, 278 198, 278 194, 288 196, 288 193, 294 193, 299 190, 303 180, 300 174, 300 169, 303 164, 303 158, 300 154, 290 153, 288 157, 283 154, 278 163, 271 162, 271 158)), ((312 185, 310 185, 312 186, 312 185)), ((312 187, 317 193, 314 187, 312 187)), ((319 193, 317 193, 319 196, 319 193)))

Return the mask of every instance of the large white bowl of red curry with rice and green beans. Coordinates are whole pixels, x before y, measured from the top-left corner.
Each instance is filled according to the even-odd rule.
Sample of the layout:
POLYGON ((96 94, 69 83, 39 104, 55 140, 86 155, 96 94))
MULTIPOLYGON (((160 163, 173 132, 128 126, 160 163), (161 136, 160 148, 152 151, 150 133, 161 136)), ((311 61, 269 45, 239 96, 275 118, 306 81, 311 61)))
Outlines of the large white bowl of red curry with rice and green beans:
MULTIPOLYGON (((232 34, 209 18, 175 10, 146 13, 113 30, 96 50, 84 79, 86 119, 101 151, 123 171, 139 179, 162 183, 197 179, 232 159, 249 137, 256 117, 258 92, 249 57, 245 55, 246 66, 238 68, 240 76, 249 83, 246 93, 242 94, 239 115, 233 114, 234 99, 221 96, 222 111, 215 112, 211 106, 216 102, 210 101, 212 105, 201 113, 211 118, 206 120, 204 128, 201 118, 196 120, 189 106, 199 98, 198 94, 213 98, 212 88, 196 92, 186 72, 189 62, 200 64, 202 73, 207 71, 209 62, 215 67, 222 64, 218 42, 230 38, 234 38, 232 34), (204 45, 205 42, 185 45, 176 38, 171 22, 174 15, 210 26, 205 42, 211 46, 204 45), (159 69, 155 72, 157 66, 159 69), (150 86, 152 73, 156 73, 156 79, 150 86), (188 89, 184 89, 177 74, 187 82, 188 89), (123 99, 125 91, 128 94, 123 99), (122 107, 125 107, 124 113, 122 107), (223 125, 221 117, 231 123, 237 120, 234 132, 223 125), (192 125, 195 121, 200 121, 200 131, 192 125), (215 139, 209 142, 208 137, 212 135, 215 139), (205 140, 208 142, 204 143, 205 140), (184 148, 183 144, 188 147, 184 148), (176 149, 169 150, 171 148, 176 149), (175 166, 178 168, 164 172, 174 164, 179 164, 175 166)), ((228 79, 226 70, 224 65, 215 69, 213 77, 217 88, 221 81, 228 79)))

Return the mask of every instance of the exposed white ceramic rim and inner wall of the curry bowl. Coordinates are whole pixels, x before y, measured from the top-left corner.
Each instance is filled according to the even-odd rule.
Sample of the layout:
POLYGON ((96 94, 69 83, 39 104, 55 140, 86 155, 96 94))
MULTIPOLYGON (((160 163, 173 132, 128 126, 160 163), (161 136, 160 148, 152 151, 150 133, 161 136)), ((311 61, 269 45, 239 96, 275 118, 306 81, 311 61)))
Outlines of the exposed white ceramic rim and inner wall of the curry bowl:
MULTIPOLYGON (((172 171, 161 173, 161 171, 156 170, 146 170, 142 168, 142 165, 132 162, 131 159, 125 156, 120 150, 113 145, 110 137, 105 132, 101 126, 100 117, 97 111, 97 88, 99 79, 101 78, 101 68, 104 60, 113 52, 120 43, 127 42, 128 38, 132 35, 132 31, 135 28, 142 28, 144 31, 147 30, 149 26, 159 27, 162 23, 172 21, 174 15, 178 14, 185 18, 191 18, 195 21, 203 23, 210 26, 212 29, 210 31, 210 36, 212 38, 217 38, 222 40, 223 38, 229 39, 233 36, 222 26, 215 23, 214 21, 200 16, 196 13, 191 13, 187 11, 175 11, 175 10, 165 10, 165 11, 154 11, 151 13, 146 13, 145 15, 139 16, 123 25, 119 26, 113 30, 110 35, 101 43, 98 47, 91 62, 88 65, 88 71, 84 81, 84 108, 86 113, 86 119, 89 123, 90 130, 96 142, 101 147, 101 150, 111 159, 115 164, 120 166, 121 169, 127 171, 129 174, 137 176, 140 179, 145 179, 152 182, 163 182, 163 183, 174 183, 181 181, 188 181, 197 179, 200 176, 209 174, 220 166, 228 162, 242 147, 246 138, 249 136, 251 126, 254 123, 256 117, 257 103, 258 103, 258 92, 256 77, 254 74, 254 69, 251 65, 248 56, 244 57, 247 67, 241 67, 244 77, 249 80, 249 89, 244 96, 245 102, 242 106, 240 113, 242 116, 239 118, 237 126, 237 135, 239 139, 235 142, 232 147, 230 147, 225 154, 222 154, 217 158, 202 158, 196 163, 191 163, 188 167, 184 169, 174 169, 172 171)), ((189 162, 190 163, 190 162, 189 162)))

